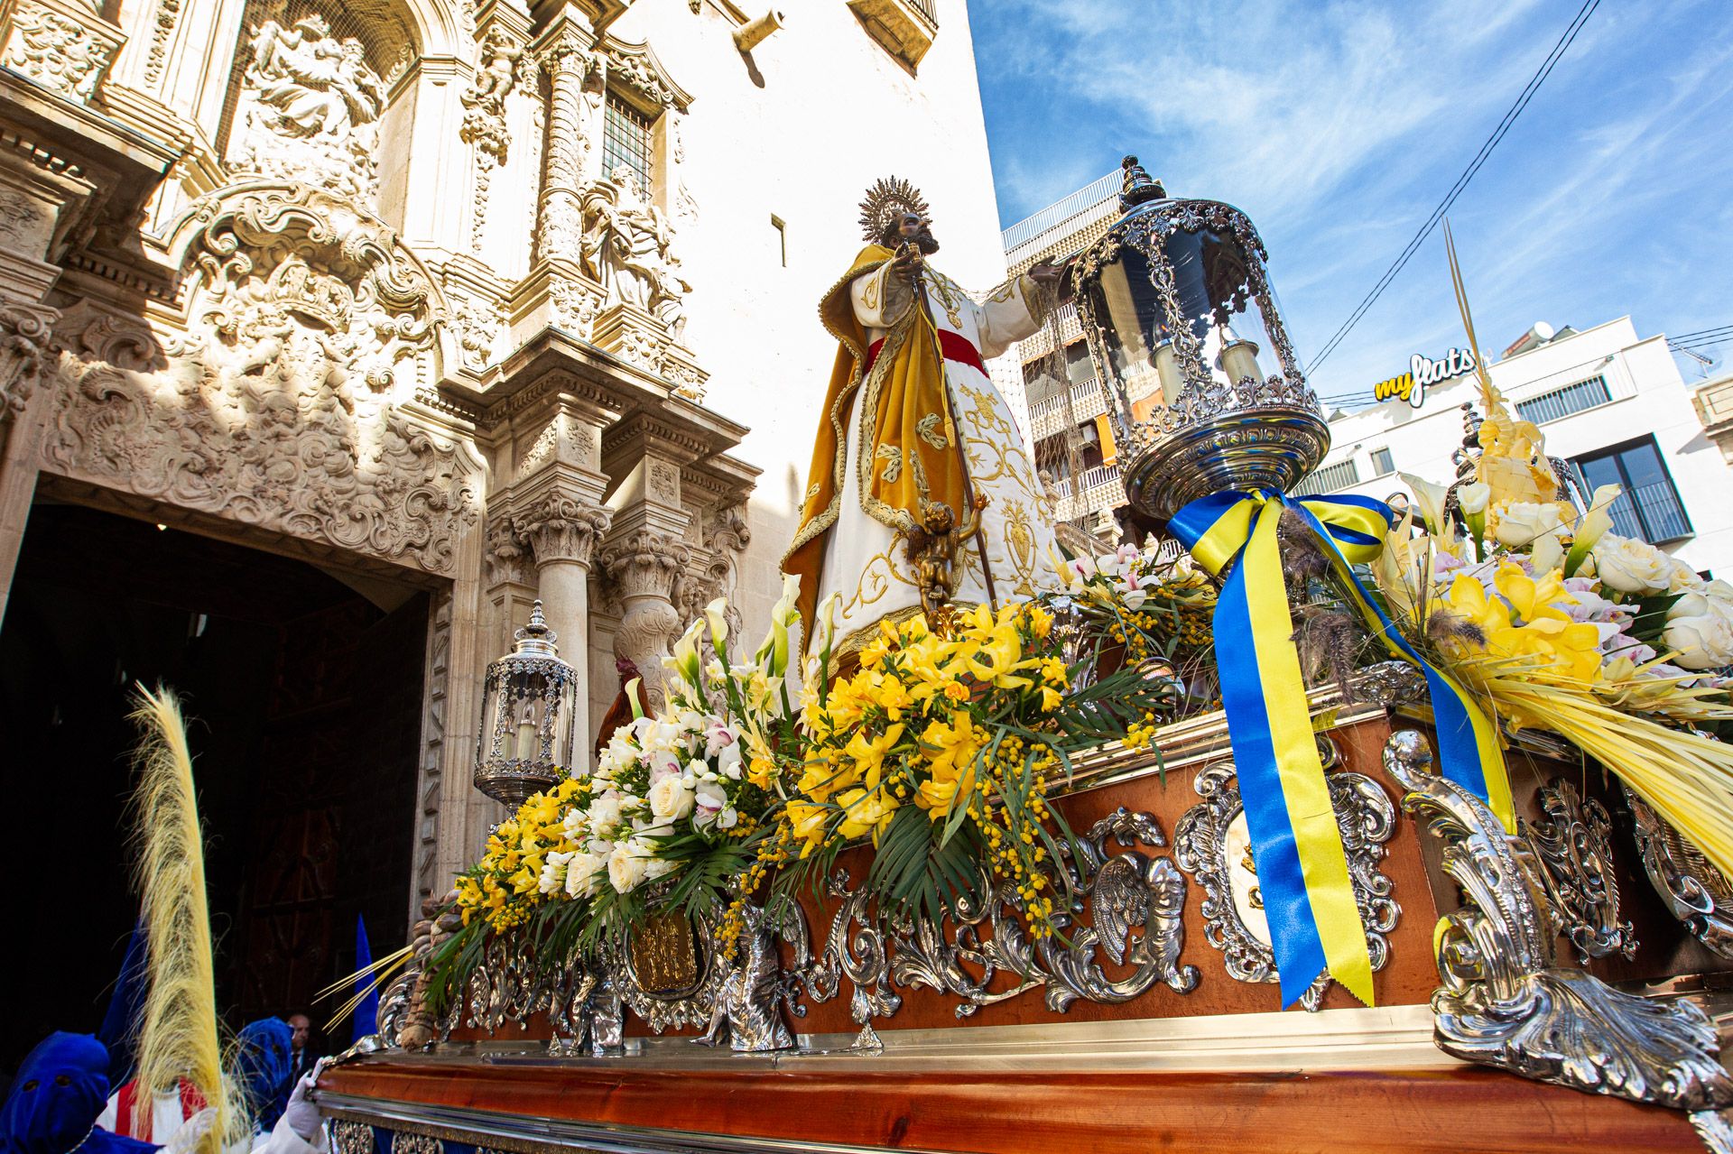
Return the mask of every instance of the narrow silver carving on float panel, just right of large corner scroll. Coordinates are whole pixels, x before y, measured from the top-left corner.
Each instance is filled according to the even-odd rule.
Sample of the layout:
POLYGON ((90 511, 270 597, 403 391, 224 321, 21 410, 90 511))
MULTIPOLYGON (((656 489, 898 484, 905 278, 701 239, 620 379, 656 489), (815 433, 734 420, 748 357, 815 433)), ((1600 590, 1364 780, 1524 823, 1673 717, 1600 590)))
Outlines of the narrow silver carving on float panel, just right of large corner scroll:
POLYGON ((1541 858, 1541 880, 1582 963, 1613 953, 1636 956, 1636 930, 1619 920, 1612 818, 1565 778, 1541 787, 1542 818, 1527 828, 1541 858))

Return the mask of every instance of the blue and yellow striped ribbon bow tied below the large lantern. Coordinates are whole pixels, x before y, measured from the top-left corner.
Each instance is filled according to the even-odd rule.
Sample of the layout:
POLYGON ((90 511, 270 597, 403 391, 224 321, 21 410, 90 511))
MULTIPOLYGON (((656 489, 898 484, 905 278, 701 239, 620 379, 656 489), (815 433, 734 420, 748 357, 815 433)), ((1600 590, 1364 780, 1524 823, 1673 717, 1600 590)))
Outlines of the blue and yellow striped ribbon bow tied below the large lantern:
POLYGON ((1515 828, 1509 780, 1487 716, 1402 638, 1353 575, 1353 563, 1371 561, 1383 549, 1393 522, 1390 506, 1359 496, 1291 501, 1279 492, 1227 490, 1192 501, 1173 516, 1168 530, 1211 574, 1239 558, 1217 600, 1215 652, 1282 1005, 1298 1000, 1326 969, 1371 1005, 1366 927, 1293 643, 1275 537, 1284 508, 1312 527, 1373 632, 1425 672, 1444 776, 1473 790, 1515 828))

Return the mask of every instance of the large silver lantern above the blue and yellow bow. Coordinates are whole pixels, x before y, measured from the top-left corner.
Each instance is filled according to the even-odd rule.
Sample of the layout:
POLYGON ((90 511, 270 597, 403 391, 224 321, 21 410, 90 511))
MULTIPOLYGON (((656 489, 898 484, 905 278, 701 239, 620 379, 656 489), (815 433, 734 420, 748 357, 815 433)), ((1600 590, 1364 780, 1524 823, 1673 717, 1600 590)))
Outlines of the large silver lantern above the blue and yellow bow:
POLYGON ((1243 211, 1170 199, 1125 158, 1125 215, 1071 263, 1132 506, 1166 522, 1223 489, 1286 492, 1329 426, 1305 383, 1243 211))

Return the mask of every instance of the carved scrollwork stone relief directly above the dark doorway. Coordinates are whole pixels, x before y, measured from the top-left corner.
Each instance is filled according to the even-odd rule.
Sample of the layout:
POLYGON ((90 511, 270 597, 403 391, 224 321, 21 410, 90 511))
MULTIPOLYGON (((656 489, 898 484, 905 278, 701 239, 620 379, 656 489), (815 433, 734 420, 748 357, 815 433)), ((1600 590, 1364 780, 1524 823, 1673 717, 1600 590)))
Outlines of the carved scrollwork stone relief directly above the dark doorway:
POLYGON ((61 366, 47 468, 452 574, 480 515, 480 463, 395 400, 438 376, 419 262, 307 185, 230 191, 180 236, 185 336, 154 350, 140 329, 132 347, 94 348, 88 331, 57 331, 76 355, 61 366))

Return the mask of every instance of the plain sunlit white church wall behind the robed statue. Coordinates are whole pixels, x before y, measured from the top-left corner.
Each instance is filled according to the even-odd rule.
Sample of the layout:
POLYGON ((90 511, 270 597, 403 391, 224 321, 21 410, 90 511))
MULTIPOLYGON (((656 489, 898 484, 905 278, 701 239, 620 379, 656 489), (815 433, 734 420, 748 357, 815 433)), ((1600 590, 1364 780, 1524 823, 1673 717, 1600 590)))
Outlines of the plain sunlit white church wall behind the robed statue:
POLYGON ((686 0, 639 0, 610 29, 648 38, 695 95, 683 175, 698 218, 678 234, 693 286, 686 343, 711 373, 705 404, 752 426, 737 456, 764 470, 742 565, 752 629, 780 586, 835 357, 818 298, 863 244, 866 185, 898 175, 920 187, 943 246, 934 263, 960 284, 986 291, 1005 276, 964 0, 938 2, 915 75, 846 3, 780 7, 789 23, 750 66, 711 5, 695 16, 686 0), (787 267, 771 215, 787 224, 787 267))

